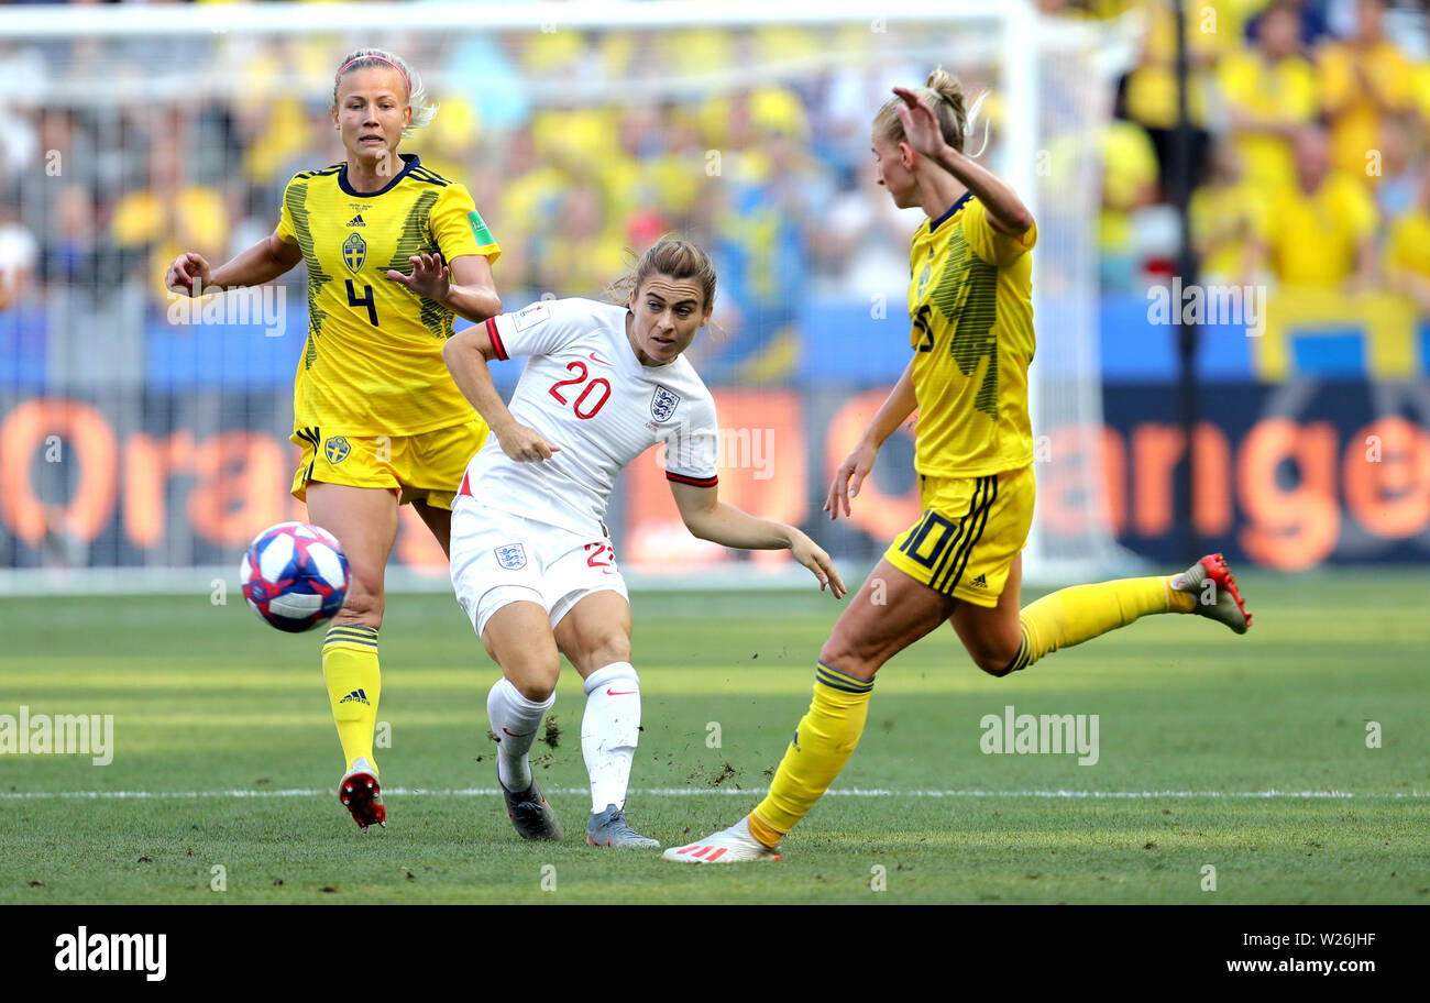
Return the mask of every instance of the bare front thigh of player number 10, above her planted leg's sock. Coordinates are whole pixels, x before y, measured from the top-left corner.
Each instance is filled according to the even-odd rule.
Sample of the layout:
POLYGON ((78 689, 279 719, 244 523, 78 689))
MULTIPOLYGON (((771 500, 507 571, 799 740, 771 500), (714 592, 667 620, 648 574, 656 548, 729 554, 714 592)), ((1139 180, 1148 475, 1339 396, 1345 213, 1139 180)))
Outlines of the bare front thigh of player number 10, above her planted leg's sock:
POLYGON ((952 606, 948 596, 881 560, 834 624, 819 660, 855 679, 874 679, 885 662, 947 620, 952 606))

